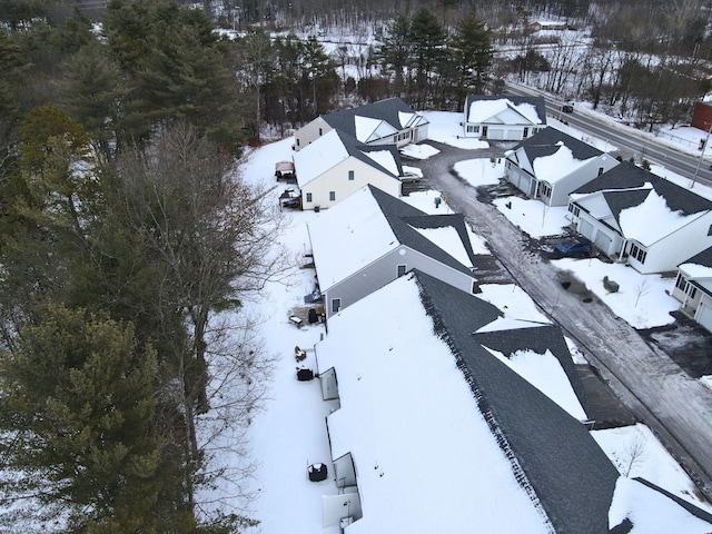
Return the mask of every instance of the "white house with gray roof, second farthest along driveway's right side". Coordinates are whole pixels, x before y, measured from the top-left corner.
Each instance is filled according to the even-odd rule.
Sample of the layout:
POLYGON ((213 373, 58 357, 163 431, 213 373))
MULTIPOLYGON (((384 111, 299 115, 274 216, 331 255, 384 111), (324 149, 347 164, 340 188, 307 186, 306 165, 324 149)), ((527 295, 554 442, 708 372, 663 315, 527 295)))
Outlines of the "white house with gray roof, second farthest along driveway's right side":
POLYGON ((505 152, 505 177, 530 198, 566 206, 572 191, 617 164, 597 148, 546 128, 505 152))

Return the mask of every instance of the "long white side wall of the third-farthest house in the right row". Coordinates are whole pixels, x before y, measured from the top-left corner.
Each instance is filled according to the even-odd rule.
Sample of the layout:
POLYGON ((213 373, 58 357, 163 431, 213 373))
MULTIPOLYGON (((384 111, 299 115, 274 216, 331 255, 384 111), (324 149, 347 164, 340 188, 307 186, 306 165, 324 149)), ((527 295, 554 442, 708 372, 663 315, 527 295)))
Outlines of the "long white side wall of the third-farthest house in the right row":
POLYGON ((639 247, 646 253, 644 264, 633 257, 629 257, 629 264, 642 274, 674 271, 685 259, 712 247, 712 236, 708 235, 711 226, 712 212, 705 212, 656 243, 639 247))

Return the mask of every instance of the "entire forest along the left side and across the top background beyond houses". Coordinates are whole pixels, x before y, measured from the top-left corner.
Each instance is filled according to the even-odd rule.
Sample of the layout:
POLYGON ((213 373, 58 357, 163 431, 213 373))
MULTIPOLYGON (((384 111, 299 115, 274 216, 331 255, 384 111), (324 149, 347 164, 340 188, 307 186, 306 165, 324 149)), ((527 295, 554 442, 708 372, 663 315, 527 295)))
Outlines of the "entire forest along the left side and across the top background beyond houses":
POLYGON ((279 214, 240 179, 249 145, 392 96, 458 110, 506 80, 641 128, 683 122, 710 89, 710 13, 700 0, 0 0, 0 530, 257 521, 202 498, 215 485, 250 498, 240 436, 271 362, 235 312, 290 266, 279 214), (241 467, 220 464, 226 447, 241 467))

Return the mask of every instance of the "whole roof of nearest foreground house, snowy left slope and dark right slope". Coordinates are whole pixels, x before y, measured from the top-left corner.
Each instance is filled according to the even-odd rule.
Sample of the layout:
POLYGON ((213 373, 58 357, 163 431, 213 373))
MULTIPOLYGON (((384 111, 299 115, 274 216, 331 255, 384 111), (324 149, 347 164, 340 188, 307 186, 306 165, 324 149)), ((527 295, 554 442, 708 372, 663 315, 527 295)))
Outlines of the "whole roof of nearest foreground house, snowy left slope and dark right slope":
MULTIPOLYGON (((468 513, 459 511, 461 493, 466 487, 463 484, 468 484, 459 478, 461 475, 466 475, 467 479, 474 477, 487 481, 484 488, 467 488, 472 492, 467 507, 477 510, 477 524, 493 525, 483 527, 483 532, 514 532, 517 524, 510 526, 508 522, 515 520, 503 518, 498 511, 491 510, 492 501, 488 496, 483 501, 484 508, 479 510, 482 491, 500 494, 503 498, 512 492, 513 501, 507 501, 507 513, 504 515, 522 514, 528 517, 527 521, 533 523, 527 525, 525 532, 537 532, 542 527, 562 532, 605 532, 607 510, 617 478, 616 469, 584 425, 483 347, 486 339, 490 347, 508 355, 512 354, 512 347, 526 347, 530 345, 528 339, 532 339, 536 345, 532 349, 544 354, 545 350, 541 350, 538 344, 555 339, 556 336, 552 334, 557 327, 544 326, 538 336, 531 334, 537 328, 472 334, 498 316, 496 308, 479 298, 414 271, 329 319, 329 336, 325 342, 328 354, 324 355, 323 344, 317 345, 319 367, 324 369, 333 366, 336 369, 342 409, 358 414, 355 416, 357 422, 346 415, 343 418, 335 417, 338 419, 337 427, 330 425, 336 413, 329 417, 334 456, 352 452, 359 476, 366 472, 365 486, 359 482, 364 520, 369 513, 368 506, 372 506, 370 513, 374 514, 374 523, 365 523, 363 531, 353 532, 374 532, 375 522, 383 520, 389 524, 395 521, 394 517, 382 518, 382 514, 399 516, 399 510, 393 508, 402 505, 393 502, 393 496, 399 495, 394 487, 386 490, 390 500, 384 502, 380 498, 385 498, 385 494, 380 493, 379 481, 388 476, 388 473, 413 492, 429 495, 432 484, 427 483, 423 487, 422 481, 429 481, 433 473, 425 472, 421 476, 423 472, 419 471, 421 465, 427 462, 443 467, 438 472, 439 478, 435 477, 435 490, 454 493, 452 501, 447 497, 438 500, 441 505, 451 503, 439 510, 435 520, 444 532, 467 532, 459 523, 453 523, 451 527, 451 522, 458 522, 462 514, 471 521, 468 513), (393 303, 399 305, 393 306, 393 303), (377 314, 377 320, 374 320, 374 314, 377 314), (353 322, 353 317, 358 318, 353 322), (338 326, 334 327, 335 324, 338 326), (468 403, 449 404, 458 403, 451 399, 449 395, 463 386, 456 385, 454 376, 447 377, 439 370, 441 360, 445 358, 446 368, 459 368, 469 386, 468 403), (373 368, 363 364, 366 360, 370 362, 373 368), (344 363, 348 369, 346 377, 339 370, 344 363), (346 384, 342 395, 344 380, 346 384), (379 388, 387 392, 377 393, 379 388), (378 397, 372 404, 370 399, 378 395, 386 395, 386 398, 378 397), (417 399, 412 400, 412 395, 417 399), (362 396, 368 399, 362 400, 362 396), (389 402, 396 406, 395 411, 390 411, 389 402), (421 408, 423 402, 427 408, 421 408), (486 426, 478 423, 478 416, 474 417, 469 411, 464 409, 467 405, 472 406, 475 415, 479 413, 484 416, 486 426), (454 409, 454 406, 457 408, 454 409), (364 409, 367 413, 362 414, 360 411, 364 409), (435 413, 439 414, 434 417, 438 421, 432 422, 428 414, 435 413), (448 422, 454 414, 457 414, 455 421, 458 426, 464 426, 463 422, 467 422, 477 429, 476 435, 469 434, 466 428, 451 429, 452 423, 448 422), (432 424, 438 425, 437 432, 433 431, 432 424), (336 437, 339 427, 344 437, 336 437), (427 431, 425 435, 429 437, 423 437, 422 428, 427 431), (491 447, 492 436, 496 438, 501 456, 490 456, 486 453, 491 447), (482 443, 472 439, 482 439, 482 443), (457 468, 452 468, 451 458, 447 463, 439 464, 442 456, 453 454, 453 447, 461 451, 456 461, 457 468), (497 473, 502 473, 501 469, 506 473, 506 464, 502 465, 502 459, 510 458, 511 472, 506 476, 490 475, 486 471, 490 467, 479 462, 479 447, 483 454, 487 454, 488 463, 497 473), (471 454, 472 451, 477 453, 471 454), (358 458, 365 458, 364 463, 359 463, 358 458), (370 469, 372 462, 374 466, 378 465, 378 468, 373 469, 375 475, 370 469), (384 471, 383 477, 379 476, 379 469, 384 471), (512 474, 530 497, 528 502, 517 496, 518 492, 511 487, 512 474), (441 486, 441 479, 445 479, 444 486, 441 486), (375 497, 370 497, 368 504, 372 485, 375 487, 372 490, 375 497), (543 523, 541 518, 534 522, 538 514, 547 517, 551 525, 543 523), (504 526, 498 523, 498 527, 495 527, 495 523, 490 523, 494 521, 504 521, 504 526), (540 525, 538 528, 536 525, 540 525)), ((557 332, 565 347, 561 330, 557 332)), ((421 507, 418 501, 414 505, 409 497, 411 492, 406 497, 408 502, 403 505, 408 506, 409 514, 418 517, 421 511, 424 515, 431 514, 432 508, 427 504, 421 507)), ((428 524, 428 521, 434 520, 423 517, 421 521, 428 524)), ((433 532, 421 527, 417 531, 433 532)), ((377 532, 393 531, 378 528, 377 532)))

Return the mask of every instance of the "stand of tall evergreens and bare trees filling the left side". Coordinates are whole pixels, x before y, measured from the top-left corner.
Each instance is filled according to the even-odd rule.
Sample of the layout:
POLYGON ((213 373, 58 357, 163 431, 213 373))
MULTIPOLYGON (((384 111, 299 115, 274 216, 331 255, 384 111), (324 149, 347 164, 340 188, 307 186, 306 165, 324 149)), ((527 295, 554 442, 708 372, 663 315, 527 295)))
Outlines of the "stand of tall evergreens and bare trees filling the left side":
POLYGON ((270 356, 225 312, 287 264, 235 49, 167 2, 49 13, 0 30, 0 528, 239 532, 202 496, 249 497, 270 356))

